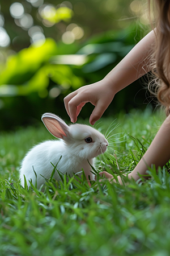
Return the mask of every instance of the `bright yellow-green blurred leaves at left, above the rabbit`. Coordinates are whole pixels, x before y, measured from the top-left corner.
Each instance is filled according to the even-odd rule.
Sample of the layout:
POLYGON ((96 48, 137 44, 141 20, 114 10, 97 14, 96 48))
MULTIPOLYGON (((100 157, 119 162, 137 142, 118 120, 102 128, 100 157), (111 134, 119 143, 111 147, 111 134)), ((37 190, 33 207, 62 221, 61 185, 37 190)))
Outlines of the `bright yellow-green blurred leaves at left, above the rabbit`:
POLYGON ((55 84, 79 88, 82 82, 70 67, 50 64, 50 57, 57 52, 57 44, 49 38, 41 46, 31 45, 10 56, 0 74, 0 96, 25 96, 38 92, 40 97, 46 97, 49 79, 55 84))

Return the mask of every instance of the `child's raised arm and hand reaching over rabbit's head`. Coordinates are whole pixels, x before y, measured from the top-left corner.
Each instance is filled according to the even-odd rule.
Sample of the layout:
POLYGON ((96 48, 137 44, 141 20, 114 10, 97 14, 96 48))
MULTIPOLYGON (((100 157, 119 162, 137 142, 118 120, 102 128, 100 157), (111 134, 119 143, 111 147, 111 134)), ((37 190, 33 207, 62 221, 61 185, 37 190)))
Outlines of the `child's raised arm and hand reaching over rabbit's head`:
POLYGON ((76 122, 82 107, 86 102, 91 102, 95 109, 91 114, 90 123, 94 125, 111 104, 118 91, 150 71, 147 64, 154 42, 155 32, 152 30, 131 49, 128 55, 103 80, 83 86, 66 96, 65 108, 71 122, 76 122))

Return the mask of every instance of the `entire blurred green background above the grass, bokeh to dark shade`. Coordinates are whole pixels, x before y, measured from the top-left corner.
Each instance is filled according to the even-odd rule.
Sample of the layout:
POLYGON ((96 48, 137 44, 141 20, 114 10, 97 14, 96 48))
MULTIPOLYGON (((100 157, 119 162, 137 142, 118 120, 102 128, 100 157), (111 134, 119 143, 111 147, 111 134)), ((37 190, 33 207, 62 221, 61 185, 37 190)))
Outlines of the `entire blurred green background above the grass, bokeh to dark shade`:
MULTIPOLYGON (((43 0, 34 2, 39 1, 43 2, 43 0)), ((113 6, 110 0, 105 2, 74 0, 63 3, 54 3, 50 0, 50 3, 44 2, 39 7, 33 6, 31 0, 23 2, 10 0, 7 5, 2 1, 1 15, 5 17, 5 27, 10 35, 11 44, 8 48, 0 48, 0 54, 6 59, 3 61, 2 58, 0 61, 0 129, 35 125, 44 112, 54 112, 68 119, 63 98, 80 86, 103 79, 147 34, 147 26, 141 22, 131 22, 128 18, 134 16, 130 13, 131 2, 140 1, 115 1, 113 6), (15 18, 15 13, 12 14, 11 6, 15 4, 23 5, 23 15, 26 15, 29 9, 29 14, 33 17, 30 28, 24 27, 22 18, 15 18), (113 13, 108 6, 112 7, 113 13), (92 15, 90 7, 94 10, 92 15), (80 13, 82 11, 82 15, 78 10, 80 13), (90 24, 87 20, 87 10, 90 24), (107 14, 111 15, 111 13, 115 19, 108 18, 107 14), (125 20, 116 20, 116 17, 121 17, 122 14, 126 14, 125 20), (112 20, 109 26, 108 20, 112 20), (11 27, 8 26, 9 22, 11 27), (19 24, 23 24, 23 27, 19 24), (86 31, 86 26, 90 32, 86 31), (111 27, 115 29, 109 30, 111 27), (97 31, 96 28, 99 30, 97 31), (40 38, 34 39, 35 34, 32 34, 34 29, 41 31, 35 33, 40 38), (73 31, 78 34, 74 34, 73 31), (95 35, 92 35, 94 32, 95 35), (69 38, 73 34, 75 37, 69 38), (18 45, 17 40, 19 40, 18 45)), ((129 112, 131 108, 141 107, 145 98, 145 90, 142 89, 139 81, 136 81, 114 97, 114 102, 105 115, 112 115, 121 109, 129 112)), ((87 104, 80 117, 89 117, 92 109, 93 106, 87 104)))

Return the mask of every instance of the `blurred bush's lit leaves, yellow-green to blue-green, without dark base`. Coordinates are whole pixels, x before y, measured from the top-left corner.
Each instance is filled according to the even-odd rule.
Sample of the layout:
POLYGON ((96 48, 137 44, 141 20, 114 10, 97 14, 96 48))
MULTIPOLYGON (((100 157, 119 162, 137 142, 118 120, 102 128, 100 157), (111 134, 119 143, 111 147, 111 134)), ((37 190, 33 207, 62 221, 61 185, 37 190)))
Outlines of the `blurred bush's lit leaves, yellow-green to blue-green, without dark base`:
MULTIPOLYGON (((74 73, 79 73, 80 77, 86 79, 86 74, 97 71, 101 73, 110 64, 114 67, 130 51, 134 40, 128 31, 124 31, 124 34, 123 39, 118 38, 121 35, 114 34, 110 34, 110 39, 107 35, 91 39, 86 46, 77 46, 80 49, 75 55, 71 54, 74 53, 72 51, 71 55, 61 55, 60 47, 51 38, 32 44, 8 57, 6 66, 0 73, 0 96, 25 96, 39 92, 43 98, 48 95, 43 91, 48 88, 50 80, 63 89, 77 89, 83 85, 84 80, 74 73), (75 65, 66 65, 73 63, 75 65)), ((102 76, 103 72, 99 79, 102 76)))

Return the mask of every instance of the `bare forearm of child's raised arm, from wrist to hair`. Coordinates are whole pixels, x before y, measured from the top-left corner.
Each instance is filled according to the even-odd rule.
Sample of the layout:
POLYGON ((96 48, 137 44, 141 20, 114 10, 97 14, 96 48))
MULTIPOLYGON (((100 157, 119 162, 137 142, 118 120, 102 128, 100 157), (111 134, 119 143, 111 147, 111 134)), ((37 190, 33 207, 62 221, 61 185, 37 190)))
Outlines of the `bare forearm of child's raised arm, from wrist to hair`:
POLYGON ((118 63, 118 65, 105 76, 113 86, 113 92, 117 93, 139 77, 150 71, 150 56, 155 43, 155 31, 152 30, 118 63))

